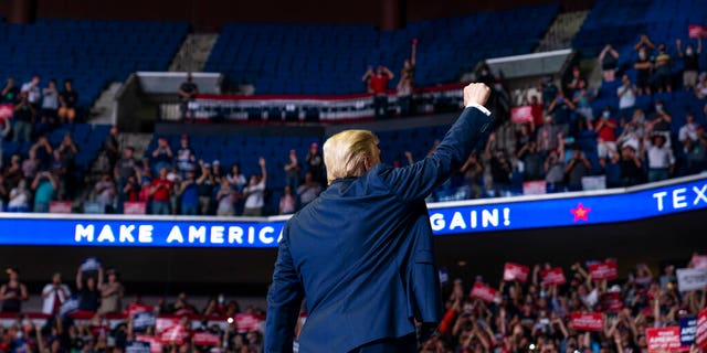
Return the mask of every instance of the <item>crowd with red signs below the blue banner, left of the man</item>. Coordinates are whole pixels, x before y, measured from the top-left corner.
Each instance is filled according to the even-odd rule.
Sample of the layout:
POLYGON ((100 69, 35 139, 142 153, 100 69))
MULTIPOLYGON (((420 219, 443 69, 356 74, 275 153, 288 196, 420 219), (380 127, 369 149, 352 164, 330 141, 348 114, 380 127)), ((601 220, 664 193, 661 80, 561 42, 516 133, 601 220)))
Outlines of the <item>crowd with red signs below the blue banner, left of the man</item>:
POLYGON ((155 352, 149 342, 158 342, 162 352, 262 352, 263 334, 257 329, 262 309, 249 306, 242 310, 223 293, 211 298, 203 309, 198 309, 184 292, 173 301, 161 298, 148 304, 135 296, 125 303, 118 272, 97 265, 78 267, 73 286, 54 274, 41 292, 43 318, 22 310, 29 298, 27 286, 20 280, 19 269, 8 269, 9 280, 0 287, 0 300, 3 318, 11 322, 0 325, 0 351, 155 352), (151 323, 136 323, 136 315, 146 312, 154 314, 151 323), (233 320, 239 315, 252 318, 252 322, 242 327, 233 320), (172 333, 162 334, 156 317, 176 321, 172 333), (110 324, 110 320, 118 322, 110 324), (208 333, 212 340, 201 342, 197 338, 200 333, 208 333))

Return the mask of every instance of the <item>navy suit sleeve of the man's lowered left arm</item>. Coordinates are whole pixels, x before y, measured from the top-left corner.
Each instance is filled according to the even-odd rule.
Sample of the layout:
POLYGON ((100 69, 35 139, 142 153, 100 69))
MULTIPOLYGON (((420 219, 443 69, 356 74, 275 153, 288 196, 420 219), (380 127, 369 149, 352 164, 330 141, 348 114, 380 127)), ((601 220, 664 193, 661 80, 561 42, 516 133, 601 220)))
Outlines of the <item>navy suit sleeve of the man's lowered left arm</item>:
POLYGON ((267 292, 266 353, 293 351, 294 331, 303 298, 304 289, 289 253, 289 234, 285 225, 275 261, 273 284, 267 292))

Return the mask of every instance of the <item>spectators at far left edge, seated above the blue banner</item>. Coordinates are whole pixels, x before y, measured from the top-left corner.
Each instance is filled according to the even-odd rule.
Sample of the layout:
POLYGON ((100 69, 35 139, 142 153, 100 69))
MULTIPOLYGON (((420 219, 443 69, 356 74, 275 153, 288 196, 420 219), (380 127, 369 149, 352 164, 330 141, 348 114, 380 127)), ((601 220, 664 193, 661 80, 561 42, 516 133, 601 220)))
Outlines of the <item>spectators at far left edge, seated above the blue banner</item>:
POLYGON ((0 208, 7 212, 49 212, 54 200, 75 195, 78 147, 66 135, 56 146, 46 136, 76 119, 78 94, 72 81, 59 89, 55 79, 41 87, 40 76, 17 85, 13 77, 0 90, 0 208), (28 156, 3 156, 2 141, 31 143, 28 156))

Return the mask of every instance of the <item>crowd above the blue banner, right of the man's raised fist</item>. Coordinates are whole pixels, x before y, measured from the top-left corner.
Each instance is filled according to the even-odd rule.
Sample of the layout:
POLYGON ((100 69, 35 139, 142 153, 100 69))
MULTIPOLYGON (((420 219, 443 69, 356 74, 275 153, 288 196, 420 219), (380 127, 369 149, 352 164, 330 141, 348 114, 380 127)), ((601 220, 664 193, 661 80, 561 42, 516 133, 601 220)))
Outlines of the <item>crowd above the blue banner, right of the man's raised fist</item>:
MULTIPOLYGON (((707 170, 707 104, 701 111, 674 116, 659 98, 647 109, 637 104, 642 95, 672 92, 682 78, 686 92, 703 99, 707 73, 699 72, 701 41, 695 49, 676 41, 684 71, 674 77, 665 45, 654 45, 646 34, 635 45, 635 82, 620 72, 619 53, 611 45, 601 52, 602 85, 620 81, 610 93, 618 106, 608 104, 595 111, 593 93, 581 69, 574 66, 568 79, 556 85, 551 76, 537 86, 510 95, 487 67, 477 76, 496 84, 496 94, 515 106, 529 106, 531 118, 511 122, 507 141, 493 133, 483 151, 469 157, 452 185, 465 188, 466 197, 523 193, 527 181, 544 181, 546 192, 587 188, 585 176, 602 176, 599 188, 631 186, 707 170), (684 51, 683 51, 684 47, 684 51), (699 77, 699 78, 698 78, 699 77), (676 126, 677 121, 684 121, 676 126), (677 133, 675 133, 677 131, 677 133), (584 180, 584 182, 583 182, 584 180)), ((611 99, 609 99, 610 101, 611 99)), ((597 188, 592 183, 590 188, 597 188)))

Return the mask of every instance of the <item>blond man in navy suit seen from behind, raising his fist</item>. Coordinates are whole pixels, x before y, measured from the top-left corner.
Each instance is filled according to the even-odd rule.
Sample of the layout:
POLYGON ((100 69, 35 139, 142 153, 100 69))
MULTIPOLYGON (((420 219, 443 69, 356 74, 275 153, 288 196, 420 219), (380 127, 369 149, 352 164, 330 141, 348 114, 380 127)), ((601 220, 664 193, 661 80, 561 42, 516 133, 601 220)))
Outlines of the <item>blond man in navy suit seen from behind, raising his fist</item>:
POLYGON ((492 127, 489 88, 464 88, 466 108, 428 158, 380 163, 378 139, 347 130, 324 145, 329 188, 283 228, 267 295, 265 352, 415 352, 415 322, 434 328, 442 298, 424 197, 464 163, 492 127))

